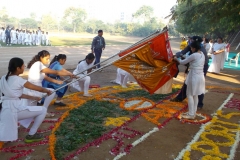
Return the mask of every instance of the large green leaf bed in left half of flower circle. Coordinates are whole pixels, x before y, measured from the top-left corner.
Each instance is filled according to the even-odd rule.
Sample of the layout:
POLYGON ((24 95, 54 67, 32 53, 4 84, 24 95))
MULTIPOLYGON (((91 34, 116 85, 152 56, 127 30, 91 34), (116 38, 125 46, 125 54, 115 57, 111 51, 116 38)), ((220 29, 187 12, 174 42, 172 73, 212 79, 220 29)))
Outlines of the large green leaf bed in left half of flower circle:
POLYGON ((136 114, 138 114, 137 111, 122 110, 118 103, 96 100, 86 102, 81 107, 70 111, 69 116, 61 123, 56 132, 56 158, 62 159, 67 152, 77 149, 110 130, 110 127, 103 125, 107 117, 134 116, 136 114))

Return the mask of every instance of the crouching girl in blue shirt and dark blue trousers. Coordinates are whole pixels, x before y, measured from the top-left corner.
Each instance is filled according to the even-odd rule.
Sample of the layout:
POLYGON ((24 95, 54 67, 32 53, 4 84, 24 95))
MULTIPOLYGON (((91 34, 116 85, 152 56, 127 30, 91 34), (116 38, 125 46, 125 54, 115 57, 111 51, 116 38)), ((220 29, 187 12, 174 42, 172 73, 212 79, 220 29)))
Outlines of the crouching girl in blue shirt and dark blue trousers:
MULTIPOLYGON (((52 70, 57 70, 57 71, 63 70, 64 72, 69 72, 62 67, 62 65, 65 64, 66 60, 67 60, 67 56, 65 54, 59 54, 58 56, 55 56, 53 58, 53 60, 51 61, 50 65, 49 65, 49 68, 52 69, 52 70)), ((48 74, 47 76, 52 78, 52 79, 62 80, 62 78, 58 75, 48 74)), ((42 81, 42 86, 44 88, 58 89, 58 88, 60 88, 64 85, 66 85, 66 82, 63 82, 62 84, 57 84, 57 83, 49 82, 49 81, 46 81, 46 80, 42 81)), ((66 87, 64 87, 64 88, 62 88, 62 89, 60 89, 56 92, 57 99, 56 99, 54 105, 66 106, 66 104, 61 102, 61 99, 64 96, 64 94, 66 93, 67 89, 68 89, 68 86, 66 86, 66 87)))

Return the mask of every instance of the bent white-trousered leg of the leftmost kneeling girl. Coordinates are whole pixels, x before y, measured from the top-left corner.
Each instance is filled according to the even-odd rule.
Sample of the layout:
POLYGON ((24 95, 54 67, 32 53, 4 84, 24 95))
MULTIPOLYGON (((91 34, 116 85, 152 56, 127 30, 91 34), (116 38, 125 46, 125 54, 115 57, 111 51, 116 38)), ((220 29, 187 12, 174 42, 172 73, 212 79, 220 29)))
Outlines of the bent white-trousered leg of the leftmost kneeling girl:
MULTIPOLYGON (((41 107, 41 106, 38 106, 41 107)), ((18 120, 28 119, 34 117, 34 123, 32 127, 30 128, 29 135, 34 135, 39 126, 42 124, 43 120, 45 119, 47 113, 47 108, 42 107, 41 111, 29 111, 29 110, 23 110, 18 112, 18 120)))

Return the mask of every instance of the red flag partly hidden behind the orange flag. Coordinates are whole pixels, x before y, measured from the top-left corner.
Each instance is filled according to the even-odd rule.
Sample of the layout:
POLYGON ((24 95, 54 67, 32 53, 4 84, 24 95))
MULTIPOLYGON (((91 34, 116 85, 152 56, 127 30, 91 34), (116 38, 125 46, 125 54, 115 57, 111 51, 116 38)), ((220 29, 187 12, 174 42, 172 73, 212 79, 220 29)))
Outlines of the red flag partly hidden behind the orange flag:
POLYGON ((146 44, 149 44, 151 49, 152 49, 152 57, 154 59, 160 59, 166 62, 171 62, 173 59, 173 53, 171 50, 171 46, 169 43, 169 38, 168 38, 168 32, 167 30, 164 32, 161 32, 153 37, 150 37, 149 39, 146 39, 146 41, 131 47, 119 54, 119 56, 124 56, 128 54, 129 52, 132 52, 136 50, 137 48, 144 46, 146 44))

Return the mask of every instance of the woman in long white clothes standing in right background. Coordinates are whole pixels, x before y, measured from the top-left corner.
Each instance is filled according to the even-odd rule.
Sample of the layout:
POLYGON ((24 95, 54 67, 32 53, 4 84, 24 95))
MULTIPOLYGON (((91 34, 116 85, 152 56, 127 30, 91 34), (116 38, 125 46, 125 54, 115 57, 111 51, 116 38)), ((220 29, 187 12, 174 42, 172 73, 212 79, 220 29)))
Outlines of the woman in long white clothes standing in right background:
POLYGON ((218 38, 217 43, 213 45, 212 63, 208 68, 208 72, 220 73, 223 69, 225 62, 225 43, 222 38, 218 38))

